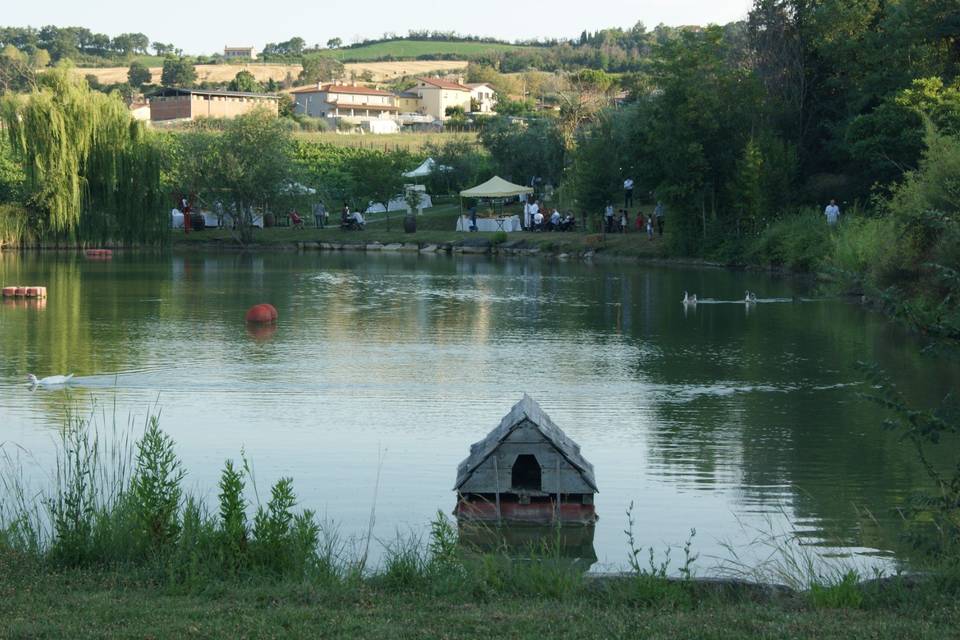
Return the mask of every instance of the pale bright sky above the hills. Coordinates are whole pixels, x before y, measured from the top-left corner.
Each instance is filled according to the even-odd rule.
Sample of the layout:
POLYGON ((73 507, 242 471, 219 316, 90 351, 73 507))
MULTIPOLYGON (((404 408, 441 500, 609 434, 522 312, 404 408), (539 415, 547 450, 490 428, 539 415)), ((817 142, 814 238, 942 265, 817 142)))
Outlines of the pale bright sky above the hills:
POLYGON ((149 10, 129 1, 3 0, 3 26, 81 26, 115 36, 145 33, 191 54, 210 54, 224 45, 281 42, 300 36, 308 45, 333 37, 345 44, 410 29, 518 38, 576 37, 584 29, 630 27, 643 22, 686 25, 726 23, 746 16, 750 0, 482 0, 481 2, 398 2, 397 0, 320 0, 267 3, 263 0, 202 2, 165 0, 149 10), (276 7, 271 12, 269 7, 276 7))

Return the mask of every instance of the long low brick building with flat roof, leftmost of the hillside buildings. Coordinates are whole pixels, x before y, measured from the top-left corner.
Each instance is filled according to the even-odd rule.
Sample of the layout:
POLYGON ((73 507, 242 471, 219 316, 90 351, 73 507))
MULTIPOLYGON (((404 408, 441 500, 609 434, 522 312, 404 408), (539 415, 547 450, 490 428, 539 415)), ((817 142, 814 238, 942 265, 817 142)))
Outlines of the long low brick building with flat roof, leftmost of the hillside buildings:
POLYGON ((264 93, 165 87, 150 96, 150 120, 235 118, 257 108, 266 108, 276 116, 279 112, 278 100, 277 96, 264 93))

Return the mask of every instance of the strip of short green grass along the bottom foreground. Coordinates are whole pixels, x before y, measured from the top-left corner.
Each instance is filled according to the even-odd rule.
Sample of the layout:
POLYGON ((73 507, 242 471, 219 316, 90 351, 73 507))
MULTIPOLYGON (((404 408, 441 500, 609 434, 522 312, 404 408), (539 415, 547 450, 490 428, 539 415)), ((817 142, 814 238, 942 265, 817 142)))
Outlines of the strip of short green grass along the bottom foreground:
POLYGON ((932 588, 898 587, 858 608, 722 594, 651 599, 630 583, 562 596, 269 580, 183 592, 123 570, 11 573, 2 563, 0 636, 9 638, 935 639, 956 637, 960 624, 960 607, 932 588))

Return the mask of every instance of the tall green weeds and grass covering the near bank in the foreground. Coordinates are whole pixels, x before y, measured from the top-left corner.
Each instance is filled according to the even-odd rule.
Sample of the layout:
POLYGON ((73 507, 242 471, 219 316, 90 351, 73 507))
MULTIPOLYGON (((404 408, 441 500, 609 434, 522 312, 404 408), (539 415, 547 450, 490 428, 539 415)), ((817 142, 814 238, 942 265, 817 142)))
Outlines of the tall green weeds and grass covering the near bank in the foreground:
POLYGON ((39 498, 8 465, 0 635, 120 632, 118 610, 138 633, 171 637, 235 637, 239 621, 240 635, 258 635, 267 620, 270 633, 406 637, 541 637, 547 621, 561 637, 930 638, 949 637, 960 623, 960 570, 861 581, 847 569, 807 571, 812 565, 788 557, 777 575, 789 585, 699 579, 693 532, 679 566, 669 555, 657 563, 634 538, 629 511, 628 570, 616 575, 585 575, 549 541, 521 557, 481 552, 461 544, 440 512, 425 539, 398 535, 371 566, 371 533, 345 540, 335 525, 296 509, 290 478, 251 504, 250 489, 259 494, 250 464, 228 460, 208 507, 184 490, 175 443, 156 418, 133 445, 118 442, 72 420, 53 486, 39 498), (412 626, 401 633, 391 627, 398 620, 412 626))

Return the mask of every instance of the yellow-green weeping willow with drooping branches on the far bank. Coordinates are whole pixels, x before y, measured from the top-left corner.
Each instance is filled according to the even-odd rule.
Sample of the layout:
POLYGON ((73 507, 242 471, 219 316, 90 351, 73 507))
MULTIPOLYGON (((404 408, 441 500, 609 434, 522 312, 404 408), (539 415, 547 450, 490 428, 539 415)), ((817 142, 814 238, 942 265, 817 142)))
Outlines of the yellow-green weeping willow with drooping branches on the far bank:
POLYGON ((44 240, 162 242, 161 153, 118 96, 57 68, 0 117, 23 165, 26 205, 44 240))

